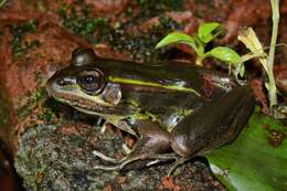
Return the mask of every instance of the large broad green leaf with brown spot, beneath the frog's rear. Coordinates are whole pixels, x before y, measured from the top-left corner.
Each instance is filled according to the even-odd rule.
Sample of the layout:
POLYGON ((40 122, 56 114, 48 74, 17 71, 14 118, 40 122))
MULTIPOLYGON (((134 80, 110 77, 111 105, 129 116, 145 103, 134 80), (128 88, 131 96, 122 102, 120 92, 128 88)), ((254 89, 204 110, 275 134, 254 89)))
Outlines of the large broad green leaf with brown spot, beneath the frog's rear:
POLYGON ((228 190, 287 190, 287 129, 255 112, 238 138, 206 155, 228 190))

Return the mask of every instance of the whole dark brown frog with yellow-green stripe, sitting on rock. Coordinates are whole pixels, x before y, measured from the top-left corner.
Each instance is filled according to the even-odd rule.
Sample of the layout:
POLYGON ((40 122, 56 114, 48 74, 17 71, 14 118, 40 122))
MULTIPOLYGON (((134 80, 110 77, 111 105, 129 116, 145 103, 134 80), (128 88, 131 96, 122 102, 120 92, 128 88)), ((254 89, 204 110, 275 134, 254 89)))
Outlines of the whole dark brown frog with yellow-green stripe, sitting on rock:
POLYGON ((74 51, 71 66, 55 73, 46 89, 60 102, 137 137, 120 160, 95 150, 110 162, 95 167, 103 170, 171 159, 177 167, 234 140, 255 105, 251 88, 225 74, 174 62, 106 60, 91 49, 74 51))

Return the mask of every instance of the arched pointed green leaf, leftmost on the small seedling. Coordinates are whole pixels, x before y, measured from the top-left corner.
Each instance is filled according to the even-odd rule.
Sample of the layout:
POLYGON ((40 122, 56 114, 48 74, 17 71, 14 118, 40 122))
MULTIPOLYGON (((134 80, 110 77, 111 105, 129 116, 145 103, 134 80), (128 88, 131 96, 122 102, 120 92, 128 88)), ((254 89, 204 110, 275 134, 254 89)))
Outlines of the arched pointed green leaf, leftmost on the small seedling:
POLYGON ((172 32, 168 34, 166 38, 163 38, 156 46, 156 49, 163 47, 170 44, 174 43, 185 43, 189 44, 191 47, 193 47, 196 51, 194 39, 191 38, 188 34, 184 34, 182 32, 172 32))

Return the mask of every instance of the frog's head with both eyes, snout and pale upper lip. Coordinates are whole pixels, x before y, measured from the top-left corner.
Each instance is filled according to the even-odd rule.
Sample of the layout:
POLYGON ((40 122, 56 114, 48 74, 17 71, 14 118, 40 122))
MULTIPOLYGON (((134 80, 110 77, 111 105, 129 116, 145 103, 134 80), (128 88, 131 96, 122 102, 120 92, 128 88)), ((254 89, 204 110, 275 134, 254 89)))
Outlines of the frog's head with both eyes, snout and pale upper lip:
POLYGON ((91 49, 77 49, 71 66, 56 72, 46 83, 51 96, 76 109, 95 115, 123 114, 119 84, 108 82, 106 71, 93 63, 97 60, 91 49))

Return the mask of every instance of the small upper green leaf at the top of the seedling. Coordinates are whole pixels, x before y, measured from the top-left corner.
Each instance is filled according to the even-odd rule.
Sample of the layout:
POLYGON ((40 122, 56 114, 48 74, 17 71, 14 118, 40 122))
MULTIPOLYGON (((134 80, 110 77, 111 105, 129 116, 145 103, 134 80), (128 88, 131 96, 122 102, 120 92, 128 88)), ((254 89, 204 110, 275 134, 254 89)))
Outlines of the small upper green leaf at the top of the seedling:
POLYGON ((198 35, 201 41, 209 43, 221 33, 221 24, 217 22, 203 23, 199 28, 198 35))

